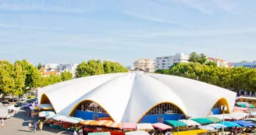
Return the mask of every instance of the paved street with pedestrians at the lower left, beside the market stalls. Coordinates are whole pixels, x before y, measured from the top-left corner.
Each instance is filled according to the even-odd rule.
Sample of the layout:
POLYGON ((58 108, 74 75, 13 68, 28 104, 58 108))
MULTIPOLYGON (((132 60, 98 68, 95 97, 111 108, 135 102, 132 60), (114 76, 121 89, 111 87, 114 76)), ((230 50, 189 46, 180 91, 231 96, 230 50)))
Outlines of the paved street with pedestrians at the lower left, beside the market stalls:
MULTIPOLYGON (((14 117, 10 119, 5 119, 5 128, 0 128, 0 134, 1 135, 23 135, 23 134, 31 134, 28 130, 28 123, 32 122, 34 124, 34 121, 37 121, 37 119, 32 119, 27 116, 27 112, 24 110, 20 110, 19 113, 14 115, 14 117)), ((72 134, 70 132, 66 131, 60 131, 52 129, 48 126, 43 127, 43 131, 37 131, 34 134, 42 134, 42 135, 51 135, 51 134, 72 134)))

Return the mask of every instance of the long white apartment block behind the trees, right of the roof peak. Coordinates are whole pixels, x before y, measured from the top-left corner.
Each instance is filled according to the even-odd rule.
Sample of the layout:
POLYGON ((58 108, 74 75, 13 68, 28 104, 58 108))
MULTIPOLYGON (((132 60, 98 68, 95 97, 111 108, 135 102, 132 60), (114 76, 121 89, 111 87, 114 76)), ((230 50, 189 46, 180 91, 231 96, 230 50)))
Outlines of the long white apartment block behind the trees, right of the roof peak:
POLYGON ((189 55, 184 53, 176 53, 176 55, 165 55, 155 57, 155 70, 170 69, 174 63, 188 62, 189 55))

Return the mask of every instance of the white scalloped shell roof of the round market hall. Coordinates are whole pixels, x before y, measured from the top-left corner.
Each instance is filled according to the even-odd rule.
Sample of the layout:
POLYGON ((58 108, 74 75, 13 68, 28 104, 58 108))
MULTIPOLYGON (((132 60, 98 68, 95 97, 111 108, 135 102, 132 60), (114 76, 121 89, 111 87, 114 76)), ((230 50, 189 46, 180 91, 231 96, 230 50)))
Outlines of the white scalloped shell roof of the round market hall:
POLYGON ((88 76, 41 88, 38 94, 46 94, 55 111, 64 115, 80 101, 95 101, 117 123, 137 123, 162 102, 177 105, 187 115, 205 117, 220 98, 226 98, 229 110, 236 100, 236 93, 208 83, 148 73, 88 76))

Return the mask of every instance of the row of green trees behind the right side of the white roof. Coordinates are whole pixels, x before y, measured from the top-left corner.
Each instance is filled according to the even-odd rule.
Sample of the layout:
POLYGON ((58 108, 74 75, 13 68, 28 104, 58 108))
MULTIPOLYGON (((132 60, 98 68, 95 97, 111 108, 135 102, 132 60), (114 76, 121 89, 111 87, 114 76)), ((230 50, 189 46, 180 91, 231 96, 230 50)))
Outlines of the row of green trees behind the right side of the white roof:
POLYGON ((207 62, 204 57, 195 54, 190 54, 189 63, 176 64, 170 69, 157 70, 156 73, 183 76, 233 91, 256 91, 256 69, 218 67, 214 62, 207 62))

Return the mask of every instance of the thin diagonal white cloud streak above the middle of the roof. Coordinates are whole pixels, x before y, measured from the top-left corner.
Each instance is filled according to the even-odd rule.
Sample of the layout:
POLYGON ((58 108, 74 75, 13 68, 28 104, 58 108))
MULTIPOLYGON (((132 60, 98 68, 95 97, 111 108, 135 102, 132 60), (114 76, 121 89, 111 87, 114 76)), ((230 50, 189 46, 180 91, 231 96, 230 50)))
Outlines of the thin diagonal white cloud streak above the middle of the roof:
POLYGON ((151 20, 151 21, 159 22, 159 23, 168 23, 168 24, 177 25, 177 26, 180 26, 180 27, 191 27, 190 25, 187 25, 187 24, 184 24, 184 23, 179 23, 179 22, 175 22, 175 21, 172 21, 172 20, 162 20, 162 19, 159 19, 155 16, 150 16, 150 15, 147 15, 147 14, 139 14, 139 13, 134 13, 134 12, 124 12, 124 13, 128 16, 137 17, 137 18, 140 18, 140 19, 143 19, 143 20, 151 20))

